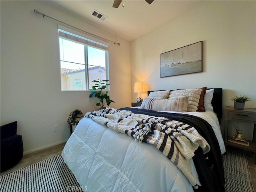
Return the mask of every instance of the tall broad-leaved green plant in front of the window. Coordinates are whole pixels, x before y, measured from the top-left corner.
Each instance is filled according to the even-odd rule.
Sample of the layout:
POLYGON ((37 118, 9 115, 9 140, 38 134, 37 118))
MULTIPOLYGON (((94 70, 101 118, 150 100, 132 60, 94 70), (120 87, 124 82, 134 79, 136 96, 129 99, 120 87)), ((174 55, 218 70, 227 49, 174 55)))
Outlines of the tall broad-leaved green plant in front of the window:
POLYGON ((100 102, 96 103, 96 106, 101 106, 104 108, 104 105, 107 104, 108 106, 111 104, 111 102, 114 103, 113 100, 110 100, 110 96, 108 96, 108 91, 104 92, 103 90, 109 86, 107 84, 109 80, 93 80, 92 82, 95 82, 96 84, 92 86, 92 93, 90 94, 90 98, 97 97, 100 99, 100 102), (99 91, 96 91, 96 89, 99 89, 99 91))

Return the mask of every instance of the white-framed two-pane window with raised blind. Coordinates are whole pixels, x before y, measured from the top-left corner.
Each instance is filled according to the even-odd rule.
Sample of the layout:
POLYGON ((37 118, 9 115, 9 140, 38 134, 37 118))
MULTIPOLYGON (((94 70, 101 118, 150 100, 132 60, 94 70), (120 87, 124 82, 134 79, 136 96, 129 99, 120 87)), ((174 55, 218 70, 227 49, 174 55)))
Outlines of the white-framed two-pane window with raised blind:
POLYGON ((61 90, 90 90, 108 79, 108 43, 59 26, 61 90))

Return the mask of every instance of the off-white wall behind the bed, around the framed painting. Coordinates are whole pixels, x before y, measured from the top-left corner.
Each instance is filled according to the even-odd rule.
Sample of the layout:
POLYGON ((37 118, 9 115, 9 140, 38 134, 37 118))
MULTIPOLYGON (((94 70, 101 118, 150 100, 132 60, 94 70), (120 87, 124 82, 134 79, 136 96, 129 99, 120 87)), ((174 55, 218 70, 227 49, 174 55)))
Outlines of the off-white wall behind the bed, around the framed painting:
MULTIPOLYGON (((132 89, 223 88, 223 108, 246 94, 256 107, 256 2, 201 1, 167 24, 131 42, 132 89), (203 41, 203 72, 160 78, 160 54, 203 41)), ((144 94, 145 96, 145 94, 144 94)), ((135 101, 136 93, 132 93, 135 101)), ((224 116, 223 116, 224 117, 224 116)))

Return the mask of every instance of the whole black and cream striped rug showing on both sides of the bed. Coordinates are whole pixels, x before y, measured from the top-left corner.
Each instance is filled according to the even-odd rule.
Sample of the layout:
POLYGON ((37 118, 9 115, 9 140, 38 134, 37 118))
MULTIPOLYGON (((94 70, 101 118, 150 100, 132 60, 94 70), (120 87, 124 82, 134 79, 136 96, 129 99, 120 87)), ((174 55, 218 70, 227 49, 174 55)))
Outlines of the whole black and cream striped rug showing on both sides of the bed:
MULTIPOLYGON (((244 150, 227 148, 223 155, 226 192, 255 192, 244 150)), ((0 177, 0 192, 82 192, 61 155, 0 177)))

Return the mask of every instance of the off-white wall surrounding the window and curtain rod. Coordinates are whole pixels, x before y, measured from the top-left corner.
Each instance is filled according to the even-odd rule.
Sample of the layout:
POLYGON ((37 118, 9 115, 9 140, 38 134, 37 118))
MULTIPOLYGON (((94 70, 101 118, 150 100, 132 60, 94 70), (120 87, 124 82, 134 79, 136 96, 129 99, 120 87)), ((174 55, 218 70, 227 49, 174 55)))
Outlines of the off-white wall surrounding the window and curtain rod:
POLYGON ((110 106, 131 104, 130 42, 116 37, 50 1, 1 1, 1 125, 18 121, 24 151, 68 140, 66 120, 76 108, 97 110, 90 92, 61 92, 58 23, 34 9, 110 42, 110 106), (121 88, 120 88, 121 87, 121 88), (58 132, 53 126, 58 125, 58 132))

